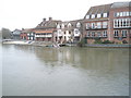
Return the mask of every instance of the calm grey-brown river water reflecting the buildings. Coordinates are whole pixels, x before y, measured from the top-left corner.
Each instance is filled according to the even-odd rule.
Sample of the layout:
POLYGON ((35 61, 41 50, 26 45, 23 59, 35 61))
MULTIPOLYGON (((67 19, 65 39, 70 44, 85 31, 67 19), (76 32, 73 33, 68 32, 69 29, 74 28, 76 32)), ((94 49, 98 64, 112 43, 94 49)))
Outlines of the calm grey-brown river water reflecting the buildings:
POLYGON ((129 50, 3 45, 3 96, 128 96, 129 50))

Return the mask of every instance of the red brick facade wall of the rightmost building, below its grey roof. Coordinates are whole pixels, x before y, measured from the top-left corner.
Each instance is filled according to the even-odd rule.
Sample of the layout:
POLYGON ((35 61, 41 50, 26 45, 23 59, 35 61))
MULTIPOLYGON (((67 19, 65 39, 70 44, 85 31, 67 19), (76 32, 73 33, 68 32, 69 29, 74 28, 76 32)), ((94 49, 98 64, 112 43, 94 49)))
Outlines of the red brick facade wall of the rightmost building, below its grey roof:
POLYGON ((129 7, 124 7, 124 8, 114 8, 114 9, 110 9, 110 11, 109 11, 109 23, 110 23, 110 28, 108 28, 108 30, 110 32, 110 40, 111 41, 115 41, 115 42, 122 42, 123 40, 126 40, 126 41, 128 41, 128 44, 130 44, 130 40, 131 40, 131 19, 130 19, 130 16, 131 16, 131 12, 130 12, 130 8, 129 7), (123 12, 128 12, 129 13, 129 16, 115 16, 115 13, 123 13, 123 12), (115 28, 114 27, 114 25, 115 25, 115 23, 114 23, 114 21, 115 20, 119 20, 119 19, 121 19, 121 20, 127 20, 127 19, 130 19, 130 21, 129 21, 129 27, 118 27, 118 28, 115 28), (117 37, 115 37, 115 30, 118 30, 118 36, 117 37), (127 30, 127 36, 126 37, 123 37, 122 36, 122 30, 127 30))

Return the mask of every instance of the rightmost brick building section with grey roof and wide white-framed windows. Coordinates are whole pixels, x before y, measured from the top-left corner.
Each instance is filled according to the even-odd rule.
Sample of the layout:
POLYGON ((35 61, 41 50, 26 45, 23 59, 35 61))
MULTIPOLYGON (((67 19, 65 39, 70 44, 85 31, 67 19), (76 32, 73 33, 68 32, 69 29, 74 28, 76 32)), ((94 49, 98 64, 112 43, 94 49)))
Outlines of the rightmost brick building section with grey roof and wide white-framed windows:
POLYGON ((109 40, 115 42, 131 40, 131 2, 116 2, 109 11, 109 40))

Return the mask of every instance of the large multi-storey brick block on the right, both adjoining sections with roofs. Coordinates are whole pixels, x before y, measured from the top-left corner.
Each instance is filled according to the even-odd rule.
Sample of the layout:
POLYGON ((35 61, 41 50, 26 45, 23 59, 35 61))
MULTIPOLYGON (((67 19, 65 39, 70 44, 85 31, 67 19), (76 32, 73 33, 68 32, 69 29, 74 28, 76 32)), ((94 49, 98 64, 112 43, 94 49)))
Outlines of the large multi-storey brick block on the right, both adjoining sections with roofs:
POLYGON ((83 37, 87 44, 96 39, 110 40, 116 44, 129 42, 131 33, 131 2, 92 7, 84 16, 83 37))

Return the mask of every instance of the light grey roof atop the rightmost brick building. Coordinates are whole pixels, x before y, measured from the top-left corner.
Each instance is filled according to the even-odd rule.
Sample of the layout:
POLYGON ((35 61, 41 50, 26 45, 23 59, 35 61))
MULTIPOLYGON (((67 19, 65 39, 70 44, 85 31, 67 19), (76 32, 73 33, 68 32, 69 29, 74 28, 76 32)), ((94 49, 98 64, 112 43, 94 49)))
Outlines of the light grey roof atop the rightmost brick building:
POLYGON ((111 9, 115 9, 115 8, 126 8, 126 7, 131 7, 131 1, 128 1, 128 2, 115 2, 111 5, 111 9))

